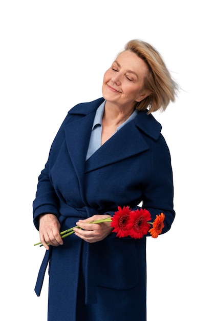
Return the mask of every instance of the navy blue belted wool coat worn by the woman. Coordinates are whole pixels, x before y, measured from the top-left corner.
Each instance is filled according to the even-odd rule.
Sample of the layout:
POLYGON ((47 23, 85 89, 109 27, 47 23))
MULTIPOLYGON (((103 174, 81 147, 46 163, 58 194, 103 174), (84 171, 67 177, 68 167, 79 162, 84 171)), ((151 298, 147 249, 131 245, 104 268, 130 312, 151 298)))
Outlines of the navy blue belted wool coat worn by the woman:
MULTIPOLYGON (((153 115, 139 112, 85 162, 102 102, 99 98, 78 104, 68 112, 38 179, 34 224, 38 229, 38 216, 53 213, 65 230, 79 218, 113 215, 118 206, 136 209, 142 201, 152 219, 165 214, 165 233, 175 211, 170 154, 161 125, 153 115)), ((118 238, 111 233, 89 244, 70 235, 63 242, 47 251, 41 268, 45 270, 50 259, 49 321, 146 319, 146 237, 118 238)), ((41 284, 40 275, 37 295, 41 284)))

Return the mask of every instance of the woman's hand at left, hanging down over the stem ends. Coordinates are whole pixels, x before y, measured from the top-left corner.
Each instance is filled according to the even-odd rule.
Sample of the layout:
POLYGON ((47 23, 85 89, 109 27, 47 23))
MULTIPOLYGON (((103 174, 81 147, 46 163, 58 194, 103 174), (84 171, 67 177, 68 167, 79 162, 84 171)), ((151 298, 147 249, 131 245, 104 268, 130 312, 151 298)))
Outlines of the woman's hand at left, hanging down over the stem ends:
POLYGON ((39 216, 39 236, 41 244, 49 250, 48 245, 59 246, 63 244, 60 236, 60 223, 54 214, 39 216))

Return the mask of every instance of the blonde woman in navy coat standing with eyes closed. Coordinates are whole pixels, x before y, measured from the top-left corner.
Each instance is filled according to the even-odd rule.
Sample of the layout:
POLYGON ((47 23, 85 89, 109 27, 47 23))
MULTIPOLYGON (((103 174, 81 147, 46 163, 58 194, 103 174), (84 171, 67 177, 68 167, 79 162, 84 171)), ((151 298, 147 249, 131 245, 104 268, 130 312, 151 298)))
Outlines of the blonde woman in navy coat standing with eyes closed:
POLYGON ((116 237, 118 206, 147 209, 173 223, 173 176, 161 125, 152 112, 175 100, 160 54, 133 40, 103 78, 103 97, 69 112, 38 179, 34 224, 47 249, 49 321, 146 320, 146 237, 116 237), (73 226, 75 235, 61 238, 73 226))

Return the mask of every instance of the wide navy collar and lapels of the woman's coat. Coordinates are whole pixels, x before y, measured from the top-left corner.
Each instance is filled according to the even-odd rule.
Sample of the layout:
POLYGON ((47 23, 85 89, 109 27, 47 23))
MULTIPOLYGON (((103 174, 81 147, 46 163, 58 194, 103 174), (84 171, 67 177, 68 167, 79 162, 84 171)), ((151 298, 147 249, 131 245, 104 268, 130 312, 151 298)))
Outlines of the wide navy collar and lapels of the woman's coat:
POLYGON ((81 181, 85 171, 118 162, 148 149, 144 134, 153 139, 158 139, 160 135, 161 125, 153 115, 147 115, 146 111, 139 112, 133 121, 115 133, 85 162, 94 116, 103 101, 103 98, 99 98, 91 103, 78 104, 69 111, 76 121, 65 126, 66 142, 81 181))

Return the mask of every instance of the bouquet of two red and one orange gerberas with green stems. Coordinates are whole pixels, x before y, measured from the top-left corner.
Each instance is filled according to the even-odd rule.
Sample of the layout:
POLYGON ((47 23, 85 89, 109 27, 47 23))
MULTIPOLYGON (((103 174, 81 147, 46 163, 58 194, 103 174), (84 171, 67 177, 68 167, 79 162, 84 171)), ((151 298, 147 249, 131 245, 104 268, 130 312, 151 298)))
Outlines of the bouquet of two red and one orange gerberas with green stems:
MULTIPOLYGON (((118 211, 115 212, 113 217, 107 217, 103 219, 94 220, 90 223, 99 224, 103 222, 111 222, 113 227, 112 232, 116 233, 117 237, 130 236, 133 238, 141 238, 147 233, 150 233, 152 237, 157 238, 164 228, 165 215, 160 213, 156 215, 154 222, 151 222, 151 214, 146 209, 132 210, 129 206, 121 208, 118 206, 118 211)), ((61 238, 67 237, 74 233, 74 226, 68 230, 60 232, 61 238)), ((41 242, 34 244, 42 246, 41 242)))

